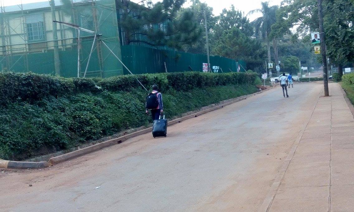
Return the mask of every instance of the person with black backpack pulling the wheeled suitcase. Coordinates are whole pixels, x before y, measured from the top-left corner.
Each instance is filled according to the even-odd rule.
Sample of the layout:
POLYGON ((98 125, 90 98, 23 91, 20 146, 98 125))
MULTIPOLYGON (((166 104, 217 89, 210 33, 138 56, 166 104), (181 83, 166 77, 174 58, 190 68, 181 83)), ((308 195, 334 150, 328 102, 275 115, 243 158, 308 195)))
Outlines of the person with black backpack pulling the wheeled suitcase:
POLYGON ((146 113, 149 113, 148 110, 151 110, 151 117, 154 120, 158 120, 161 113, 164 112, 164 105, 162 103, 162 94, 158 91, 158 86, 153 85, 153 91, 149 93, 146 97, 146 113))

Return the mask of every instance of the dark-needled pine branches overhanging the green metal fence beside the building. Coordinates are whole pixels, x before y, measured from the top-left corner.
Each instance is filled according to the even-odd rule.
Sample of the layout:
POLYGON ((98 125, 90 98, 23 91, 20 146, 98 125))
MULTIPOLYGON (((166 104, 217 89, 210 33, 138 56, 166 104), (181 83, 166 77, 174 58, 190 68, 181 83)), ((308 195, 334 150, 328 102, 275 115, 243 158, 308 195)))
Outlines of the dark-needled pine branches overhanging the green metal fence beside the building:
POLYGON ((130 0, 116 0, 122 8, 119 25, 124 30, 125 43, 145 43, 151 46, 169 46, 181 49, 200 37, 202 28, 196 22, 194 13, 181 10, 185 0, 163 0, 146 7, 130 0))

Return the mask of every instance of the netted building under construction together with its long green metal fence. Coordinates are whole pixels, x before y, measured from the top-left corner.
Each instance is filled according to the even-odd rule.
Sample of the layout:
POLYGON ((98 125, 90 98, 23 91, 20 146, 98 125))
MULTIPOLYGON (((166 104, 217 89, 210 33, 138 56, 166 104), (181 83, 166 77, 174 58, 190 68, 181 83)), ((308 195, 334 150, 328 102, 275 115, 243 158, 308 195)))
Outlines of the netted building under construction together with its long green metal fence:
MULTIPOLYGON (((206 63, 206 55, 202 54, 125 45, 124 29, 118 25, 122 11, 115 0, 50 0, 6 7, 4 0, 0 2, 2 71, 110 77, 126 73, 116 57, 133 73, 201 71, 202 63, 206 63), (53 20, 95 33, 79 33, 53 20)), ((239 67, 245 71, 241 61, 215 56, 210 63, 224 72, 237 71, 239 67)))

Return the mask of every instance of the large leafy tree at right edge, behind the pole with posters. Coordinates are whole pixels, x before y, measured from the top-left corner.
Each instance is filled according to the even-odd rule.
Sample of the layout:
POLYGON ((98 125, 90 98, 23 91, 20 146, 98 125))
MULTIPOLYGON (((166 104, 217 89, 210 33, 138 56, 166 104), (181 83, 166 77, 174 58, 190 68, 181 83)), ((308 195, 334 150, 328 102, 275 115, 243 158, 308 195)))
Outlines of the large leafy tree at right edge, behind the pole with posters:
MULTIPOLYGON (((324 10, 324 28, 326 49, 329 58, 342 67, 354 62, 353 20, 354 8, 347 0, 326 0, 322 2, 324 10)), ((309 31, 318 31, 318 6, 312 0, 284 0, 281 7, 282 18, 287 26, 298 25, 297 31, 305 36, 309 31)), ((310 39, 308 39, 310 43, 310 39)), ((325 49, 321 49, 325 51, 325 49)))

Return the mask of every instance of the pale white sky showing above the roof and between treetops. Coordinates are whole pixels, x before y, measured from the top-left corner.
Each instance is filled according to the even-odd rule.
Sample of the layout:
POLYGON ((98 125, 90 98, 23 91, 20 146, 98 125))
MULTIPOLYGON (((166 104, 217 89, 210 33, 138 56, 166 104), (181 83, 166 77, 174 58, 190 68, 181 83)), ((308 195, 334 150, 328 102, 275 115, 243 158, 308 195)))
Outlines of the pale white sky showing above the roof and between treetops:
MULTIPOLYGON (((22 0, 22 4, 32 3, 32 2, 40 2, 44 0, 22 0)), ((135 2, 139 2, 141 0, 132 0, 135 2)), ((157 2, 159 0, 153 0, 153 2, 157 2)), ((187 0, 189 2, 189 0, 187 0)), ((251 10, 255 10, 261 7, 262 1, 267 0, 201 0, 201 2, 206 2, 209 6, 213 7, 213 13, 218 15, 223 8, 229 8, 232 4, 235 5, 237 10, 244 11, 247 14, 251 10)), ((281 0, 269 0, 269 4, 272 5, 280 5, 281 0)), ((5 6, 21 4, 21 0, 5 0, 5 6)), ((186 4, 188 6, 188 3, 186 4)), ((249 16, 250 20, 254 20, 259 17, 260 14, 253 14, 249 16)))

